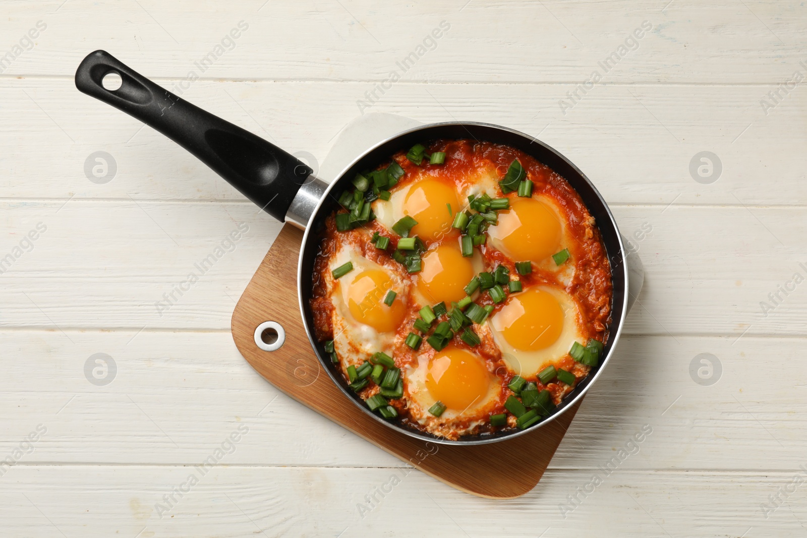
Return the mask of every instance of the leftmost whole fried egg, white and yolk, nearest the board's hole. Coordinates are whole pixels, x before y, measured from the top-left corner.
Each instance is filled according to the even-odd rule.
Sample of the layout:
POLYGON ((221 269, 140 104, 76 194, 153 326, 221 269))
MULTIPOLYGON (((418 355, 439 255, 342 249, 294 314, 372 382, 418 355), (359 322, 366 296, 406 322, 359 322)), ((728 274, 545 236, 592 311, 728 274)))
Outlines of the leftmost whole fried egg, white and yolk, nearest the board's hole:
POLYGON ((407 313, 411 284, 397 262, 379 265, 350 244, 343 245, 328 265, 333 270, 348 261, 352 271, 337 280, 328 277, 332 280, 334 346, 350 365, 365 361, 374 352, 392 354, 396 330, 407 313), (387 306, 384 298, 390 290, 396 295, 387 306))

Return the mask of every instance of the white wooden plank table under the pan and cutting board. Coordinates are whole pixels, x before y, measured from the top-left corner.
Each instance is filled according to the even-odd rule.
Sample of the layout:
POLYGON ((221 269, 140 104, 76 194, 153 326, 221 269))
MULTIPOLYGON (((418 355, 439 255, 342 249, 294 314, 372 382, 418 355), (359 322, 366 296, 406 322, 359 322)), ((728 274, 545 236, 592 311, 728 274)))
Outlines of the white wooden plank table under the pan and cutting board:
POLYGON ((803 2, 4 0, 0 15, 0 535, 805 535, 803 2), (507 125, 592 178, 645 286, 532 492, 444 486, 247 365, 230 315, 280 225, 80 94, 97 48, 315 165, 350 120, 387 112, 507 125))

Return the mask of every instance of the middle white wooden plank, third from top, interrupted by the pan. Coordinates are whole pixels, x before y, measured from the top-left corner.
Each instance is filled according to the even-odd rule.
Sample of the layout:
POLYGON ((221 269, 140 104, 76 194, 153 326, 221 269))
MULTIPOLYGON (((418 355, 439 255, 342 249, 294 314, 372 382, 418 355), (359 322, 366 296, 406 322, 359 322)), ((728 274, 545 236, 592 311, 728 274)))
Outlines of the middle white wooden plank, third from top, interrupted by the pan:
MULTIPOLYGON (((645 265, 629 334, 805 335, 807 296, 798 286, 787 295, 777 289, 792 287, 795 273, 807 276, 804 208, 615 211, 645 265)), ((255 206, 231 202, 0 202, 0 215, 8 233, 0 258, 37 223, 48 227, 0 276, 6 327, 227 330, 279 228, 255 206), (231 245, 237 223, 249 231, 231 245), (223 244, 232 252, 216 250, 223 244), (216 253, 202 273, 197 265, 216 253), (198 282, 183 283, 193 275, 198 282)))

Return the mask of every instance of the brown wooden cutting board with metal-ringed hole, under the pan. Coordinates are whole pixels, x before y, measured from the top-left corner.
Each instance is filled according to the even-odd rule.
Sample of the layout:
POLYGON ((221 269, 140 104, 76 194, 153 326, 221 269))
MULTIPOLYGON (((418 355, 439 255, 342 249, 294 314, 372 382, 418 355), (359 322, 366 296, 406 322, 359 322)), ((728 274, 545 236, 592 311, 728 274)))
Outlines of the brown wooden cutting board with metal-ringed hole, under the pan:
POLYGON ((297 282, 302 241, 299 229, 290 224, 282 228, 232 314, 232 337, 249 364, 291 398, 449 486, 487 498, 513 498, 532 490, 582 398, 546 426, 493 444, 430 443, 385 427, 341 393, 308 341, 297 290, 291 286, 297 282), (265 321, 277 322, 285 331, 276 351, 264 351, 255 343, 256 328, 265 321))

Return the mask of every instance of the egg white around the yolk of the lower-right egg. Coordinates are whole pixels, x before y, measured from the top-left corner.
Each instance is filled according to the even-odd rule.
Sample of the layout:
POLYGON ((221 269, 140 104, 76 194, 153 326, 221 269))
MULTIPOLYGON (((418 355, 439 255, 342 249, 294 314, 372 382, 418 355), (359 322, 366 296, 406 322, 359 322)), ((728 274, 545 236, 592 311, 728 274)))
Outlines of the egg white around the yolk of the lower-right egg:
MULTIPOLYGON (((535 288, 530 289, 533 290, 535 288)), ((580 327, 579 324, 579 308, 577 302, 571 298, 571 295, 567 294, 564 290, 558 290, 552 286, 537 286, 537 289, 552 294, 554 298, 558 299, 558 303, 563 310, 563 329, 560 336, 558 336, 558 340, 554 341, 554 344, 535 351, 516 349, 504 338, 501 327, 496 321, 496 314, 500 312, 492 315, 487 323, 493 340, 495 344, 499 346, 502 352, 502 358, 507 363, 511 372, 525 378, 534 378, 542 369, 545 369, 549 365, 554 365, 556 361, 565 357, 575 341, 585 341, 583 328, 580 327)), ((513 294, 513 297, 518 297, 518 294, 513 294)))

